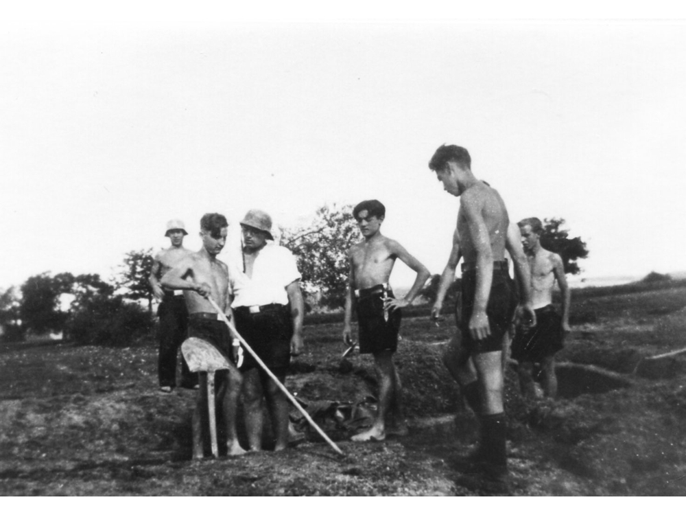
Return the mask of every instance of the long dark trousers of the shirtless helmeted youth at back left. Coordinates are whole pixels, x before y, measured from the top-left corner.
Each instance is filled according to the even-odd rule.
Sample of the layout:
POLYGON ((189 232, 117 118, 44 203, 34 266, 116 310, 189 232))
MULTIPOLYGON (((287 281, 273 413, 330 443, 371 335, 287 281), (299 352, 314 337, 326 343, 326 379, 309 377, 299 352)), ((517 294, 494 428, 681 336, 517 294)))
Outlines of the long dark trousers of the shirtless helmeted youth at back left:
MULTIPOLYGON (((160 319, 157 328, 158 379, 161 387, 176 387, 176 356, 188 336, 188 310, 183 296, 165 294, 157 315, 160 319)), ((197 382, 196 374, 191 373, 181 355, 181 385, 192 387, 197 382)))

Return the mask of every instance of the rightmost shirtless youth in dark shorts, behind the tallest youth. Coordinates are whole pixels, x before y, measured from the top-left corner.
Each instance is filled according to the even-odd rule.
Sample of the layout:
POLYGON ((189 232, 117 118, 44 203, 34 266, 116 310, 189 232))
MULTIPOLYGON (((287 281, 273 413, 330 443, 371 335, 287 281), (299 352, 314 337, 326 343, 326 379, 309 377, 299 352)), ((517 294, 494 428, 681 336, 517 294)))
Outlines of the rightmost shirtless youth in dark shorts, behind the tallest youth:
POLYGON ((563 348, 565 333, 569 332, 571 291, 567 287, 562 258, 541 247, 541 220, 524 218, 517 225, 521 230, 521 242, 531 271, 536 327, 519 325, 512 341, 512 359, 519 362, 519 384, 526 396, 536 395, 532 372, 534 363, 537 363, 543 372, 543 393, 554 398, 557 394, 555 353, 563 348), (552 306, 552 290, 556 279, 562 293, 562 317, 552 306))

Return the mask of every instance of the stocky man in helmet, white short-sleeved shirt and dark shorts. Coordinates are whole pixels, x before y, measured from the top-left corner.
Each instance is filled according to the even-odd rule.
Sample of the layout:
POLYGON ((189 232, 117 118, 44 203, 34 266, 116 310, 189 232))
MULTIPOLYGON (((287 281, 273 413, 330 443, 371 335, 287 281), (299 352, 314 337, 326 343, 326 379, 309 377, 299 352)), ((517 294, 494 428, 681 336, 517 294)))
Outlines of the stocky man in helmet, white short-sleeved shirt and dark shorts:
MULTIPOLYGON (((243 268, 230 273, 236 330, 283 384, 291 356, 303 350, 305 304, 294 255, 275 244, 272 219, 250 209, 241 220, 243 268)), ((232 265, 233 266, 233 265, 232 265)), ((262 449, 262 398, 274 429, 274 450, 288 445, 288 399, 255 358, 245 354, 244 406, 250 450, 262 449)))

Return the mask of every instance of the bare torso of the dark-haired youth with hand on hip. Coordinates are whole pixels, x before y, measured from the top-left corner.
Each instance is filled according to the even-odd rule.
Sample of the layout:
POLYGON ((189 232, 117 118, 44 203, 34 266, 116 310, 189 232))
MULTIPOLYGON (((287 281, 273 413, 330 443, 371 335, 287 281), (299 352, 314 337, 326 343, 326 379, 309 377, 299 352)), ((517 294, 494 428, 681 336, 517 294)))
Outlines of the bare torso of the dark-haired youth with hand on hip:
POLYGON ((397 255, 389 249, 392 242, 386 236, 370 238, 350 249, 355 289, 371 288, 388 282, 397 255))

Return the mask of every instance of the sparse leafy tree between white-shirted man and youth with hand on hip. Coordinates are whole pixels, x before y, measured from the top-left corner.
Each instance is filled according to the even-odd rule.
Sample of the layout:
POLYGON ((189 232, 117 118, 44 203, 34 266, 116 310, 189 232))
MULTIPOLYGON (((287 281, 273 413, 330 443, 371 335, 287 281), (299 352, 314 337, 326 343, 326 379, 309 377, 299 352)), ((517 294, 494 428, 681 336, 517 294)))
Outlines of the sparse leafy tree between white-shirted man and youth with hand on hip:
POLYGON ((348 285, 348 249, 359 241, 353 206, 323 205, 308 227, 281 229, 281 244, 296 256, 306 293, 323 304, 343 306, 348 285))

